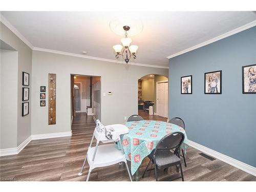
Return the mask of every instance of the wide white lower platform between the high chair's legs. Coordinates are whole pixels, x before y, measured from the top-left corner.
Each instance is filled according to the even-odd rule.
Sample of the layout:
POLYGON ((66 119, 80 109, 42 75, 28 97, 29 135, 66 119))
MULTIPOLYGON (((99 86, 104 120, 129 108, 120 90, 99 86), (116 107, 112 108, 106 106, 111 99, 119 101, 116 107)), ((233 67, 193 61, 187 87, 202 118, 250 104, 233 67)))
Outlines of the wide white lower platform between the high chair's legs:
POLYGON ((94 162, 92 162, 94 151, 95 147, 89 148, 87 154, 88 163, 92 169, 96 167, 113 165, 122 161, 126 162, 125 155, 121 150, 117 150, 113 143, 99 145, 94 162))

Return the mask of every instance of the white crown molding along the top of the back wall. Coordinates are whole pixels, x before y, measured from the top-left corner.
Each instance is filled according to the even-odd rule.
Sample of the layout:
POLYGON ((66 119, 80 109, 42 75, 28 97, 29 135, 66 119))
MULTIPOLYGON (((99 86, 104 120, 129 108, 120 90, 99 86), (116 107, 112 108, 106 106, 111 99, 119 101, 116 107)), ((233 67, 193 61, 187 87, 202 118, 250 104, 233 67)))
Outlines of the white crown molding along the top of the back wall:
MULTIPOLYGON (((43 51, 43 52, 48 52, 48 53, 56 53, 56 54, 61 54, 61 55, 69 55, 69 56, 73 56, 73 57, 81 57, 81 58, 87 58, 87 59, 94 59, 94 60, 126 64, 124 61, 119 61, 119 60, 115 60, 115 59, 106 59, 106 58, 101 58, 101 57, 80 55, 80 54, 75 54, 75 53, 69 53, 69 52, 63 52, 63 51, 57 51, 57 50, 51 50, 51 49, 43 49, 43 48, 38 48, 38 47, 34 47, 33 50, 34 51, 43 51)), ((169 67, 165 67, 165 66, 148 65, 148 64, 137 63, 137 62, 129 62, 129 65, 169 69, 169 67)))

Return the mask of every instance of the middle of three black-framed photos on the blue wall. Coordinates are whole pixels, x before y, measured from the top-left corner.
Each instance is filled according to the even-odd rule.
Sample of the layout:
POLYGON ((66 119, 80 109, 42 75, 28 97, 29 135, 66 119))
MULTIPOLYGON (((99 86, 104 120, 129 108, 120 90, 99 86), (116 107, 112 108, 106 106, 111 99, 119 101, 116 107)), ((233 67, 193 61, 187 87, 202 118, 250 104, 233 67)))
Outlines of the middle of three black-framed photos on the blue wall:
POLYGON ((221 94, 221 73, 222 71, 204 73, 204 94, 221 94))

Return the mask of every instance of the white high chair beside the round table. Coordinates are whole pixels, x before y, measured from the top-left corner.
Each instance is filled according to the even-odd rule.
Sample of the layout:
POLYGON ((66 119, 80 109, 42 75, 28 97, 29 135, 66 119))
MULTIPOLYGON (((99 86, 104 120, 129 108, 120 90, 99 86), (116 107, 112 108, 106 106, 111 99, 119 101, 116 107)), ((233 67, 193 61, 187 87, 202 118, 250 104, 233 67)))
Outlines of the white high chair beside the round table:
POLYGON ((88 161, 90 166, 86 181, 89 181, 92 169, 96 167, 104 167, 104 166, 109 166, 109 165, 114 165, 116 163, 124 162, 126 165, 130 180, 132 181, 131 173, 127 165, 127 161, 122 148, 122 142, 120 139, 120 135, 129 133, 128 128, 122 124, 113 124, 113 125, 106 125, 105 129, 113 130, 113 132, 111 132, 112 139, 106 138, 105 133, 99 133, 95 127, 93 137, 87 151, 86 158, 83 161, 81 171, 78 175, 79 176, 82 175, 82 170, 83 170, 84 164, 86 163, 86 160, 88 161), (92 147, 94 137, 97 139, 97 143, 95 147, 92 147), (100 141, 102 143, 112 142, 112 144, 104 144, 104 145, 98 146, 100 141), (121 146, 121 150, 117 150, 113 142, 119 142, 121 146))

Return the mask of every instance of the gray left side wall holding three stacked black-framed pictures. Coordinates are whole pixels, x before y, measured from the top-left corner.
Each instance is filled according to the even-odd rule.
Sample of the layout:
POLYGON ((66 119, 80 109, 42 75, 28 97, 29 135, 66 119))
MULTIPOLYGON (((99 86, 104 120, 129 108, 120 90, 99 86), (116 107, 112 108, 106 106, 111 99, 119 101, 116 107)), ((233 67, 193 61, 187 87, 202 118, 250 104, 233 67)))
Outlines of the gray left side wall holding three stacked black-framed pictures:
MULTIPOLYGON (((12 33, 4 24, 1 23, 1 40, 18 51, 18 74, 17 74, 17 114, 13 114, 13 118, 17 119, 17 146, 25 141, 31 135, 31 102, 30 114, 22 117, 22 72, 30 74, 31 88, 31 70, 32 70, 32 50, 12 33)), ((31 89, 30 89, 31 96, 31 89)), ((31 97, 30 97, 31 98, 31 97)), ((31 101, 31 99, 29 100, 31 101)), ((8 129, 8 127, 1 127, 8 129)))

